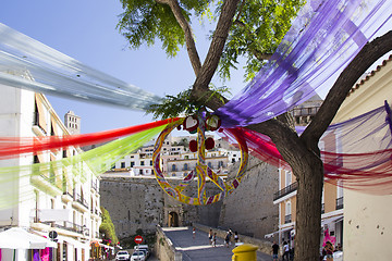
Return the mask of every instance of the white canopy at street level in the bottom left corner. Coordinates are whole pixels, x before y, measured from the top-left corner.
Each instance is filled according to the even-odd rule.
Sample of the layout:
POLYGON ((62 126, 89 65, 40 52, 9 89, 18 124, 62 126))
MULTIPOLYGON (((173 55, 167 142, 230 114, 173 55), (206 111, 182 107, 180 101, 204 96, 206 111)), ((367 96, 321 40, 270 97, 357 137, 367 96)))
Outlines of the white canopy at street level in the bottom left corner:
POLYGON ((27 232, 22 227, 11 227, 0 232, 0 248, 10 249, 45 249, 57 247, 57 244, 42 237, 27 232))

